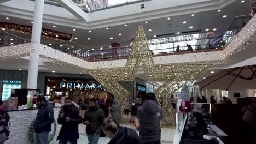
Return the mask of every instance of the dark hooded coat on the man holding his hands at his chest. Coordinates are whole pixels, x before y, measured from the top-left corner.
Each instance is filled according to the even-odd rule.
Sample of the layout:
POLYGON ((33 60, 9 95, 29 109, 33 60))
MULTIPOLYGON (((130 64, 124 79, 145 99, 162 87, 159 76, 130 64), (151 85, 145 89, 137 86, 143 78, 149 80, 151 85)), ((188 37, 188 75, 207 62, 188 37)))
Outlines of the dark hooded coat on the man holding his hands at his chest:
POLYGON ((60 108, 58 124, 61 124, 62 126, 57 140, 62 137, 66 137, 68 140, 77 140, 79 138, 78 125, 82 122, 82 117, 79 113, 79 106, 73 103, 69 109, 64 105, 60 108), (65 113, 63 118, 60 117, 61 113, 65 113), (70 122, 66 122, 66 117, 70 118, 70 122))

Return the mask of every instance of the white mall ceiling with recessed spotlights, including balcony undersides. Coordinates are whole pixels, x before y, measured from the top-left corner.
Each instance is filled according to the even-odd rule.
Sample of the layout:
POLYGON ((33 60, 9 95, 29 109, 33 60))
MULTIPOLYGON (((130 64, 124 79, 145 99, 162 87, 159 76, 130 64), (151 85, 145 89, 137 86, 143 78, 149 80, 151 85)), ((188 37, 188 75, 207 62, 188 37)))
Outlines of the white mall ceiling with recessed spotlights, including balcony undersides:
MULTIPOLYGON (((49 2, 45 0, 43 28, 73 35, 72 42, 85 50, 100 50, 109 48, 112 43, 121 46, 130 46, 136 37, 138 26, 142 25, 147 39, 176 37, 186 34, 223 33, 236 16, 248 15, 253 0, 216 0, 216 1, 182 1, 167 0, 135 1, 98 10, 84 10, 74 5, 67 5, 68 0, 49 2), (141 4, 144 8, 141 9, 141 4), (154 7, 153 7, 153 5, 154 7)), ((15 23, 24 26, 33 26, 34 1, 31 0, 4 0, 0 2, 0 22, 15 23)), ((0 33, 4 32, 0 29, 0 33)), ((19 37, 30 40, 31 34, 15 33, 19 37)), ((42 37, 41 43, 53 45, 61 41, 42 37)), ((253 41, 252 43, 255 43, 253 41)), ((212 62, 213 66, 200 76, 210 76, 213 70, 218 71, 237 61, 253 57, 253 44, 232 56, 227 62, 212 62)), ((0 69, 28 68, 28 57, 9 62, 0 62, 0 69)), ((57 71, 58 73, 87 74, 72 66, 65 69, 61 65, 51 64, 47 59, 39 64, 39 71, 57 71)), ((143 78, 140 69, 138 77, 143 78)), ((145 78, 146 79, 146 78, 145 78)))

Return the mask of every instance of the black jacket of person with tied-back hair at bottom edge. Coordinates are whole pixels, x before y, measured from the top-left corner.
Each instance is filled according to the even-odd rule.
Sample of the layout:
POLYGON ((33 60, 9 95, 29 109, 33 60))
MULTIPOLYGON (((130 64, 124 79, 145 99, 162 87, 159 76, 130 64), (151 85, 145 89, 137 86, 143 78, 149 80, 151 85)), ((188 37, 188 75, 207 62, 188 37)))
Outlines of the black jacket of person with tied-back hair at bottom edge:
POLYGON ((108 144, 143 144, 135 130, 127 127, 119 127, 115 135, 108 144))

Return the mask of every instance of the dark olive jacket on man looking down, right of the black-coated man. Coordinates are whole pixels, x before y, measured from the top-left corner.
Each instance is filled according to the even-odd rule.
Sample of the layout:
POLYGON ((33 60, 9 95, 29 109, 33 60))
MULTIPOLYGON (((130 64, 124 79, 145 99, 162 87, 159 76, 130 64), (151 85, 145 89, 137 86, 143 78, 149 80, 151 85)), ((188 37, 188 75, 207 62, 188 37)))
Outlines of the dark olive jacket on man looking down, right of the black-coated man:
POLYGON ((99 105, 94 106, 93 109, 90 109, 85 112, 84 122, 89 121, 90 124, 86 126, 86 134, 88 135, 100 135, 101 125, 104 122, 105 114, 99 105))

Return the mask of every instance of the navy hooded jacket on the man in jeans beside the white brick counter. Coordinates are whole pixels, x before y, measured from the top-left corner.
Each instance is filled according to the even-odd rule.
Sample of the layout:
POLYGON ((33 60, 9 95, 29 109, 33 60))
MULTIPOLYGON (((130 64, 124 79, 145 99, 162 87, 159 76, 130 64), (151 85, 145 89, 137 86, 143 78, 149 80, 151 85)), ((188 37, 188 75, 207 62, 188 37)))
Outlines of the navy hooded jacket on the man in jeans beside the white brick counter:
POLYGON ((51 131, 51 124, 54 122, 54 110, 50 103, 39 106, 36 120, 34 121, 34 131, 41 133, 51 131))

